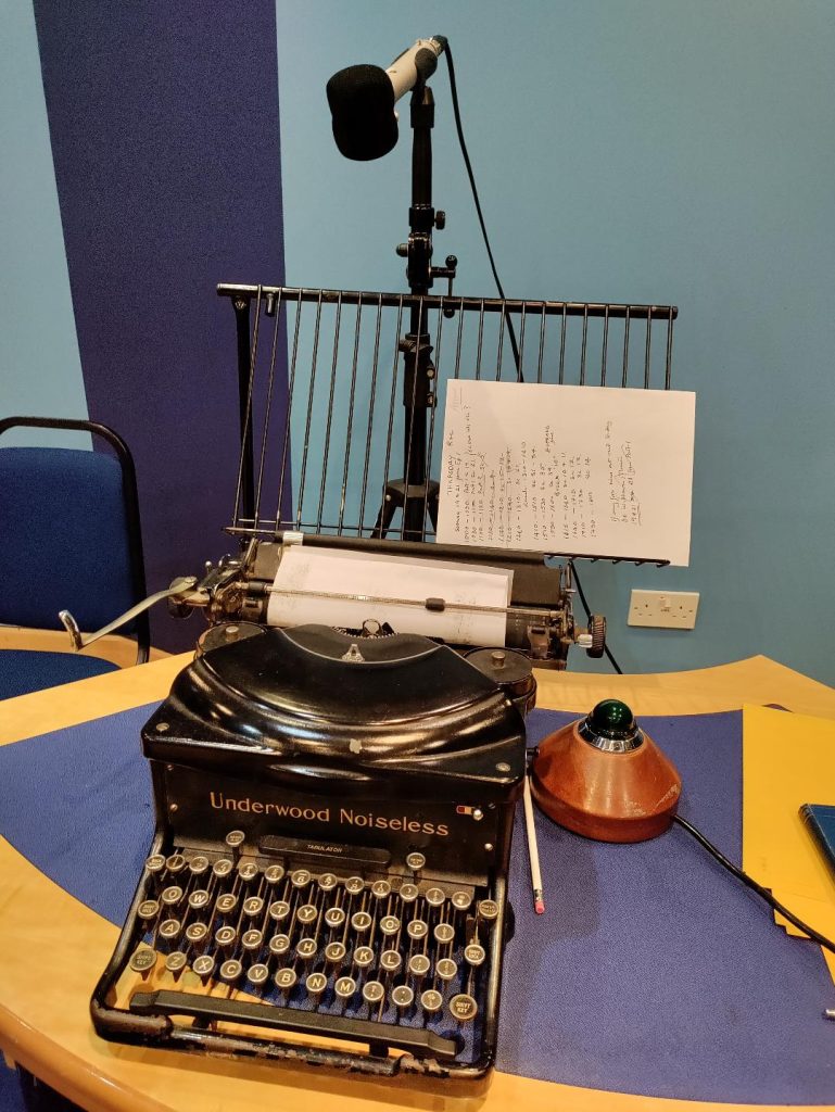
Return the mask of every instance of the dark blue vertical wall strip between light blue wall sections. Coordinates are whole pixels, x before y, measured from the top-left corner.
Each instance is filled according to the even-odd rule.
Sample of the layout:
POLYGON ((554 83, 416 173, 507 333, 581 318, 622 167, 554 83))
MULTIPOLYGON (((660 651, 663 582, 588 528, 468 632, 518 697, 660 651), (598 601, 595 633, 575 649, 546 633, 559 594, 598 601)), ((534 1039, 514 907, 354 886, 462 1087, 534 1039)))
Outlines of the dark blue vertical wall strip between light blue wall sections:
MULTIPOLYGON (((233 546, 235 319, 215 285, 284 281, 275 3, 34 12, 90 418, 135 454, 159 589, 233 546)), ((156 644, 193 636, 156 615, 156 644)))

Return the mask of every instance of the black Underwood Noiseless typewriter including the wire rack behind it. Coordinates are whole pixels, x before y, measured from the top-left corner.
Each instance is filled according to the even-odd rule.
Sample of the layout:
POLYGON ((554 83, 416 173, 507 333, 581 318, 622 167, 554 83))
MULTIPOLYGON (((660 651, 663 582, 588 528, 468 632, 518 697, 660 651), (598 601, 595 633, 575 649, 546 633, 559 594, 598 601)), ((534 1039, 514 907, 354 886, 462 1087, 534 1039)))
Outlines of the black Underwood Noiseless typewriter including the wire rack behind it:
MULTIPOLYGON (((644 385, 659 327, 667 335, 653 350, 666 351, 669 385, 674 310, 279 287, 219 292, 238 324, 241 458, 227 532, 241 547, 148 600, 167 596, 176 614, 200 607, 209 624, 142 729, 156 830, 93 993, 93 1024, 106 1039, 143 1046, 477 1078, 495 1060, 513 936, 507 876, 531 664, 564 668, 576 645, 599 656, 605 623, 575 622, 575 554, 437 543, 429 476, 438 467, 440 356, 451 351, 446 378, 465 374, 465 364, 476 377, 500 377, 504 321, 517 314, 523 365, 534 353, 526 380, 544 380, 549 366, 567 380, 576 350, 583 381, 597 321, 605 385, 619 321, 627 385, 629 326, 634 340, 643 320, 644 385), (384 356, 384 337, 397 337, 405 315, 412 331, 397 345, 400 410, 398 360, 384 356), (536 334, 527 346, 526 322, 536 334), (331 421, 334 413, 347 423, 331 421), (398 435, 404 478, 392 481, 398 435), (276 488, 267 509, 266 492, 276 488), (348 597, 339 584, 327 593, 327 624, 276 625, 276 576, 299 544, 456 559, 465 575, 498 564, 513 572, 513 586, 497 641, 427 636, 408 617, 388 620, 391 599, 348 597), (560 556, 563 564, 551 559, 560 556), (344 602, 352 614, 360 604, 361 620, 342 616, 344 602)), ((409 602, 415 612, 456 607, 409 602)), ((69 615, 64 623, 77 645, 88 643, 69 615)))

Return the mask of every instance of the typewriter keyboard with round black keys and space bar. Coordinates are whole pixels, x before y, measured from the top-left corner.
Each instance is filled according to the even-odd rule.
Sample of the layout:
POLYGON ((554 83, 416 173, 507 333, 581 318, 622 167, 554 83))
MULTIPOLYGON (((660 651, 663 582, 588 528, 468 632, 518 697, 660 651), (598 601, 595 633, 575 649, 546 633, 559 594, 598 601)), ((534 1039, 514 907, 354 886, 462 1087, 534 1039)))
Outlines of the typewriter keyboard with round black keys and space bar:
POLYGON ((433 878, 419 853, 402 875, 350 875, 241 853, 242 841, 147 860, 131 1012, 475 1061, 500 922, 487 892, 433 878))

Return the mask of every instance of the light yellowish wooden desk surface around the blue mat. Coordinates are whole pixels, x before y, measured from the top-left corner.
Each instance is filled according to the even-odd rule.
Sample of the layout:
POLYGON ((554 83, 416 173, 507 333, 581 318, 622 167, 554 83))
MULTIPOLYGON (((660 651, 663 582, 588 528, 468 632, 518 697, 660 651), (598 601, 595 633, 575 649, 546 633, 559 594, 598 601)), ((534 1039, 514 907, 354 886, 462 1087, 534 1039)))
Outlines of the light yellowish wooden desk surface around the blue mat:
MULTIPOLYGON (((170 657, 0 703, 0 744, 160 699, 187 659, 170 657)), ((638 715, 702 714, 735 709, 743 703, 778 702, 792 711, 835 718, 835 691, 763 656, 699 672, 648 676, 548 672, 539 673, 538 679, 539 705, 551 709, 585 711, 599 698, 617 696, 638 715)), ((754 1108, 597 1092, 498 1072, 481 1089, 449 1084, 418 1089, 415 1082, 400 1080, 371 1083, 284 1064, 195 1059, 107 1043, 92 1030, 88 1001, 117 935, 116 926, 0 838, 0 1046, 9 1059, 91 1112, 754 1108)))

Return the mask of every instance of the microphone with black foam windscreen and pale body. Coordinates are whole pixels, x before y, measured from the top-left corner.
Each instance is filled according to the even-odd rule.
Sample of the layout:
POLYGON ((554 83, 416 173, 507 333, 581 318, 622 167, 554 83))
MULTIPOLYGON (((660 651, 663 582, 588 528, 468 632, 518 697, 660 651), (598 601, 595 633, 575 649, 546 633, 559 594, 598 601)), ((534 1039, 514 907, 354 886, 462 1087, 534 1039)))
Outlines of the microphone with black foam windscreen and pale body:
POLYGON ((331 77, 327 93, 334 138, 346 158, 367 162, 388 155, 397 143, 395 103, 433 76, 446 47, 443 34, 418 39, 388 69, 349 66, 331 77))

